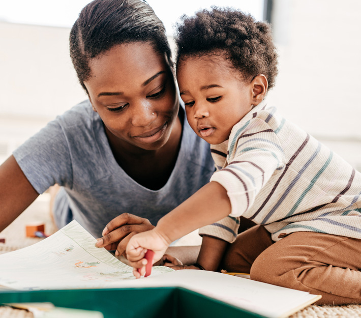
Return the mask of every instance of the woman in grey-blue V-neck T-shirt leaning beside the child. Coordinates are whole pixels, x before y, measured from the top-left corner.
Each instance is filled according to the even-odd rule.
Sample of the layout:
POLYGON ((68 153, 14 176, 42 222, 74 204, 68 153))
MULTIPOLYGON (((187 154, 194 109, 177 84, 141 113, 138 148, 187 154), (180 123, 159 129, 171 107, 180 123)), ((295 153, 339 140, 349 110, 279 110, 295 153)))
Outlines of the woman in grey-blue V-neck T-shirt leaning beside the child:
POLYGON ((89 3, 72 27, 70 55, 88 100, 0 166, 0 230, 58 184, 58 227, 75 219, 101 237, 121 215, 125 249, 207 183, 214 162, 179 107, 164 26, 145 2, 89 3))

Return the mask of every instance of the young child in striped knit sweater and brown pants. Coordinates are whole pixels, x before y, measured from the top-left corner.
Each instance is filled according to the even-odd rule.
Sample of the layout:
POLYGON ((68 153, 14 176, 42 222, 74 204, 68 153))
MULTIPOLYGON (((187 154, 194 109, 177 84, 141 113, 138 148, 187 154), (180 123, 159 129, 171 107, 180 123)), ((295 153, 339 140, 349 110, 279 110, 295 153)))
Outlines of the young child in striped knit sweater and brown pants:
POLYGON ((144 273, 147 249, 156 262, 172 241, 210 224, 200 233, 233 242, 221 269, 322 295, 318 304, 361 303, 361 174, 267 104, 277 74, 269 25, 201 10, 182 18, 176 44, 187 119, 212 145, 217 171, 131 238, 134 275, 144 273), (234 241, 239 216, 259 225, 234 241))

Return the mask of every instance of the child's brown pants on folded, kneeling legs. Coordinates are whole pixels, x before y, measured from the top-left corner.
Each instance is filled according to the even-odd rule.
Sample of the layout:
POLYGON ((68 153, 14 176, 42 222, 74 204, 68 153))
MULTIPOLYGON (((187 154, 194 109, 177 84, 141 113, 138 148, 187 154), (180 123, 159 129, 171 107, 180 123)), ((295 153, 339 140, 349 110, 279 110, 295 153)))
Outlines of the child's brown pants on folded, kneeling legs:
POLYGON ((361 240, 292 233, 278 242, 262 225, 239 234, 221 269, 251 279, 322 295, 317 305, 361 303, 361 240))

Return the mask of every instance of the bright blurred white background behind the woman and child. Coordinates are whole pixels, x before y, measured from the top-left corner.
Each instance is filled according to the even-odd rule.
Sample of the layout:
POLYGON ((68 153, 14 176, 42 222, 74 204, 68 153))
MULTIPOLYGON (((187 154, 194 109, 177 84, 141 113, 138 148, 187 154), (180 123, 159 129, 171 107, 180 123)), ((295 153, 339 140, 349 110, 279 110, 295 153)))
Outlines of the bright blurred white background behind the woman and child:
MULTIPOLYGON (((0 0, 0 164, 86 95, 69 57, 70 27, 87 0, 0 0)), ((272 24, 279 75, 268 100, 361 170, 359 0, 148 0, 172 25, 211 5, 272 24)))

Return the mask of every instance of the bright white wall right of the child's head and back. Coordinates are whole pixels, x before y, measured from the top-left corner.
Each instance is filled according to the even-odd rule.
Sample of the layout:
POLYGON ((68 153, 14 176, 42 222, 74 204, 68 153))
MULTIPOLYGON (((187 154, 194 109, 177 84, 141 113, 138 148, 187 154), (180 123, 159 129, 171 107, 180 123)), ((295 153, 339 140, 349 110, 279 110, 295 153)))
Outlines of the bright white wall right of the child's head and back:
POLYGON ((274 0, 279 76, 269 100, 361 169, 361 2, 274 0))

